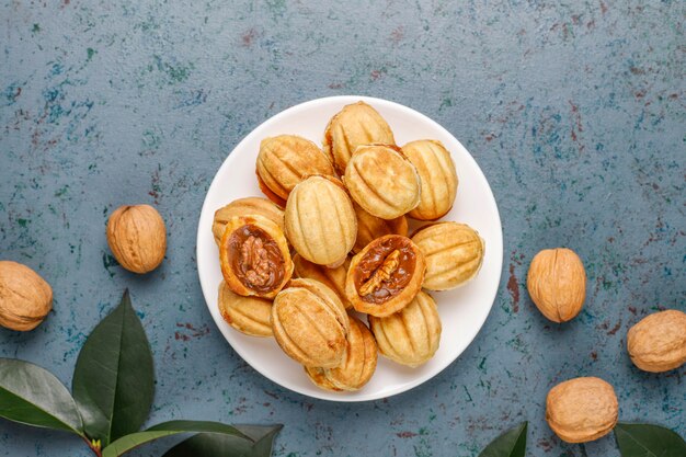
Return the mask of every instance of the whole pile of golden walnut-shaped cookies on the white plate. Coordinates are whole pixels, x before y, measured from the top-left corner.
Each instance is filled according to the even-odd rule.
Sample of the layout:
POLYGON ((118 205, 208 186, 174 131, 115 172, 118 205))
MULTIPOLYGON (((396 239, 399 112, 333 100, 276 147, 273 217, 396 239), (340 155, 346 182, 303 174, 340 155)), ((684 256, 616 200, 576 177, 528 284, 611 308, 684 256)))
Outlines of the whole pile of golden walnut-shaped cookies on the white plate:
POLYGON ((274 335, 327 390, 362 388, 377 353, 411 367, 427 362, 442 325, 425 290, 465 284, 484 254, 471 227, 437 221, 458 186, 445 147, 398 147, 381 115, 358 102, 331 118, 323 150, 295 135, 265 138, 256 178, 267 198, 215 213, 225 320, 274 335), (431 224, 408 237, 407 217, 431 224))

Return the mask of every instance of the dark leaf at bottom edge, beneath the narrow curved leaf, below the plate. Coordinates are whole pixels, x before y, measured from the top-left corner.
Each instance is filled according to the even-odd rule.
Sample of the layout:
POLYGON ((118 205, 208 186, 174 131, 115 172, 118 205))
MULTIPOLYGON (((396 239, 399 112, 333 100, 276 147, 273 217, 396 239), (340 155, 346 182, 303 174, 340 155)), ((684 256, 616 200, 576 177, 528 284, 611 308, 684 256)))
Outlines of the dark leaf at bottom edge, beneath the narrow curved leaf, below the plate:
POLYGON ((283 425, 238 429, 251 436, 254 443, 235 436, 199 433, 179 443, 162 457, 270 457, 274 438, 283 425))

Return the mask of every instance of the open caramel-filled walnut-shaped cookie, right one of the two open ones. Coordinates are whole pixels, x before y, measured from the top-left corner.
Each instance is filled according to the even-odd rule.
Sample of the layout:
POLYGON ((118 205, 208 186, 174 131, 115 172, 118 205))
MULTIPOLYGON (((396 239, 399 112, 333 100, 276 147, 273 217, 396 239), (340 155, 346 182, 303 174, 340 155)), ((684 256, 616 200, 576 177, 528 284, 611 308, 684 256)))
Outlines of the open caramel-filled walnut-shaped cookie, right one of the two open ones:
POLYGON ((421 290, 425 269, 424 255, 409 238, 387 235, 353 258, 345 294, 356 311, 389 316, 421 290))

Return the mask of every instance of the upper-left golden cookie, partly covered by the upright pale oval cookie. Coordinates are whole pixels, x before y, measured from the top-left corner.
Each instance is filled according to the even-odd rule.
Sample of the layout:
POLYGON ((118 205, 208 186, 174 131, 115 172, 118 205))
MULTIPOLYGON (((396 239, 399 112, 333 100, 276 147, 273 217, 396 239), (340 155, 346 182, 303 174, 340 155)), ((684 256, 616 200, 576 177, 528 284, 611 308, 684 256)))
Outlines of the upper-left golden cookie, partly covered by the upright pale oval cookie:
POLYGON ((334 173, 329 157, 312 141, 296 135, 263 139, 255 171, 262 192, 282 207, 305 176, 334 173))

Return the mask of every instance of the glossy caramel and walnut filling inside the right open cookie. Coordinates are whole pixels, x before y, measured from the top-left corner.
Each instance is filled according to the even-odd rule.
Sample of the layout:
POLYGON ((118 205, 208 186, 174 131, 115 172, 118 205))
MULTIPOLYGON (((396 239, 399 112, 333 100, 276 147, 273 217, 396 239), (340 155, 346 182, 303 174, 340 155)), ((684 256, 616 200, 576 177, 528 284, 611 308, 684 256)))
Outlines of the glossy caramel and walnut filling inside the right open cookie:
POLYGON ((404 237, 376 243, 354 273, 355 289, 364 301, 382 304, 400 294, 414 274, 416 256, 404 237))

